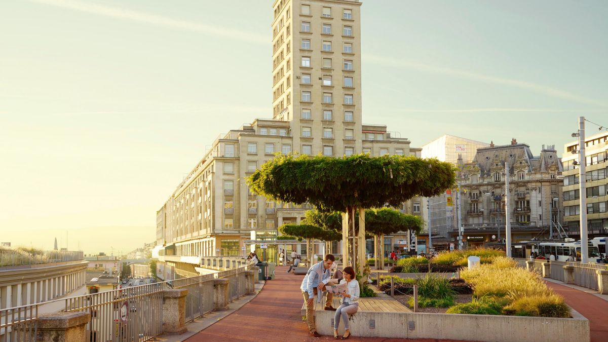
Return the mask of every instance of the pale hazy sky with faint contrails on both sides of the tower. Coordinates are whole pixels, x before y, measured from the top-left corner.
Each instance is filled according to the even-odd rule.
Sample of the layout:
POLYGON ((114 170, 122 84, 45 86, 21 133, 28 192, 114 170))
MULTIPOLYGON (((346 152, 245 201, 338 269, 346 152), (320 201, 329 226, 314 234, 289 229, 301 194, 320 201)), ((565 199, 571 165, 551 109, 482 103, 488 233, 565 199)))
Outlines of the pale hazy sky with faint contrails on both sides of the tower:
MULTIPOLYGON (((152 242, 216 136, 272 116, 271 5, 0 1, 0 241, 152 242)), ((579 115, 608 125, 607 17, 608 1, 365 0, 364 122, 414 147, 561 151, 579 115)))

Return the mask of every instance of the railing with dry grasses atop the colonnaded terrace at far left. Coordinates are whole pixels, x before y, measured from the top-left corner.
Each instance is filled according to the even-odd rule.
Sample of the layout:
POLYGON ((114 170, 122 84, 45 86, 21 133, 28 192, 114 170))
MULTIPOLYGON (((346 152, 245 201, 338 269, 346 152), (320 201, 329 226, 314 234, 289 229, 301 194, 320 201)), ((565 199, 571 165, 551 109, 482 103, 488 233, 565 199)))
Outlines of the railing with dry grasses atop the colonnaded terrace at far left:
POLYGON ((27 249, 0 249, 0 267, 36 265, 49 262, 84 260, 82 251, 39 251, 27 249))

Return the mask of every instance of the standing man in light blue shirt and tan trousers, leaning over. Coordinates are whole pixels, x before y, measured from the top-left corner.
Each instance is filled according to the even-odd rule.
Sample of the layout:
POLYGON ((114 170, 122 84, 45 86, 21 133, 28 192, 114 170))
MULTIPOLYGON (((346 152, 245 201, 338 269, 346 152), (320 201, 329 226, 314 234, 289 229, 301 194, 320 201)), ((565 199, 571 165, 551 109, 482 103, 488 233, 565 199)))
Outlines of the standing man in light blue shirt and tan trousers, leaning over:
MULTIPOLYGON (((306 323, 308 324, 310 335, 313 337, 320 336, 314 324, 314 295, 316 293, 317 296, 323 296, 325 285, 330 281, 330 268, 334 264, 334 260, 336 258, 332 254, 327 254, 325 259, 308 269, 300 286, 304 302, 306 303, 306 323)), ((328 292, 327 299, 325 300, 325 310, 336 311, 331 306, 333 298, 333 293, 328 292)))

